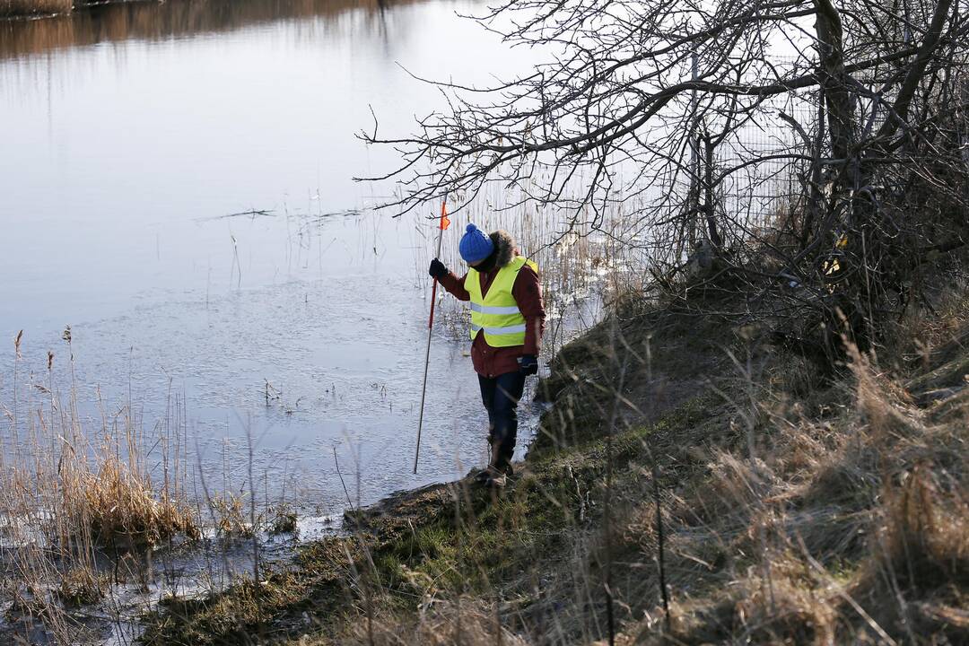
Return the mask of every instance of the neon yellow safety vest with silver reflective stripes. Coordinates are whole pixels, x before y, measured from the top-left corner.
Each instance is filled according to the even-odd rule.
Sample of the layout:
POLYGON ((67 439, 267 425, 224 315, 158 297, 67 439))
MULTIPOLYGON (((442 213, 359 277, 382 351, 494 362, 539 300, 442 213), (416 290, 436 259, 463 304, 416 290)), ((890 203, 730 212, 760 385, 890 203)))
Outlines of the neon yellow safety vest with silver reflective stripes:
POLYGON ((512 288, 521 267, 527 264, 538 273, 539 267, 532 261, 517 256, 498 270, 485 296, 482 295, 481 274, 474 267, 468 268, 464 289, 471 294, 471 340, 479 330, 484 330, 485 341, 492 348, 511 348, 525 344, 525 317, 521 315, 512 288))

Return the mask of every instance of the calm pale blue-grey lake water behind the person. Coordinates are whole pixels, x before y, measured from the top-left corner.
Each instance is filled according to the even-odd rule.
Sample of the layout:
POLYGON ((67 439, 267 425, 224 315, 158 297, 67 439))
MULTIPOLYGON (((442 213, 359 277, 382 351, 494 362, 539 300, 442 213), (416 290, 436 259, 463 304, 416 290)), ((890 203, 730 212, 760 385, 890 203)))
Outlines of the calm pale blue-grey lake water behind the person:
POLYGON ((346 505, 334 446, 364 503, 480 464, 477 379, 442 332, 411 475, 437 205, 374 215, 392 187, 352 177, 396 161, 355 138, 368 107, 398 134, 440 108, 405 69, 528 68, 455 15, 481 8, 170 0, 0 24, 0 401, 21 329, 19 415, 48 351, 66 396, 70 325, 91 427, 131 401, 150 437, 177 397, 210 484, 248 488, 248 437, 257 489, 317 513, 346 505))

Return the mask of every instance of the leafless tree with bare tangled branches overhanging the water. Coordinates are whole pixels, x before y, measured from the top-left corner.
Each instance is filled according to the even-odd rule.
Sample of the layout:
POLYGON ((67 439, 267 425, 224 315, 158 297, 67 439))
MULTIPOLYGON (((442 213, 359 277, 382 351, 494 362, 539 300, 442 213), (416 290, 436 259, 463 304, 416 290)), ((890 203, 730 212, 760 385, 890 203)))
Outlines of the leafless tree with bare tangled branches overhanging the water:
POLYGON ((703 251, 702 277, 734 281, 738 316, 772 317, 802 349, 847 321, 864 344, 920 297, 931 254, 969 240, 966 9, 506 0, 474 19, 547 62, 491 87, 435 82, 448 109, 415 134, 361 133, 402 160, 368 179, 395 179, 387 205, 402 211, 497 184, 505 208, 551 206, 573 225, 621 213, 617 235, 647 248, 657 285, 703 251), (765 193, 782 181, 780 208, 765 193))

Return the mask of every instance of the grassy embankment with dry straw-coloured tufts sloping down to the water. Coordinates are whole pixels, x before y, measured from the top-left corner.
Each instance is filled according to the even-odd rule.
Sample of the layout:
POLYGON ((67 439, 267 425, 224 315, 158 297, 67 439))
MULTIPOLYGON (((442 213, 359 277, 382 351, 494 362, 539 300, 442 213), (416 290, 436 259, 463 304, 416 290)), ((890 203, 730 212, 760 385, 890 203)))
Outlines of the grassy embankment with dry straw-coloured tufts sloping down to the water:
POLYGON ((964 295, 825 381, 689 302, 632 309, 556 357, 503 495, 350 513, 259 583, 164 603, 144 640, 588 643, 610 606, 621 644, 969 640, 964 295))

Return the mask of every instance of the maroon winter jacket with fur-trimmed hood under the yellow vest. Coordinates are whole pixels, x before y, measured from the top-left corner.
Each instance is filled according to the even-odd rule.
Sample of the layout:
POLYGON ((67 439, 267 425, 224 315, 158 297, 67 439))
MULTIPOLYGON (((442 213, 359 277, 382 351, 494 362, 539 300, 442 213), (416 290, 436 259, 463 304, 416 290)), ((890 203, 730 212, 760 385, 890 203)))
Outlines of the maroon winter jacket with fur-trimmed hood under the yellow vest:
MULTIPOLYGON (((507 235, 507 234, 506 234, 507 235)), ((499 254, 502 243, 511 243, 508 240, 499 239, 499 254)), ((516 255, 514 243, 510 249, 501 256, 508 259, 503 263, 507 264, 516 255)), ((482 282, 482 295, 487 293, 495 276, 498 275, 500 267, 496 264, 495 268, 485 274, 479 274, 482 282)), ((460 300, 471 300, 471 294, 464 289, 464 280, 467 274, 458 278, 453 272, 441 279, 441 286, 451 292, 460 300)), ((504 375, 518 370, 518 357, 522 354, 534 354, 538 356, 542 348, 542 334, 545 332, 545 306, 542 303, 542 285, 539 283, 539 275, 535 273, 527 264, 518 271, 515 285, 512 287, 512 295, 515 296, 518 309, 525 317, 525 344, 523 346, 512 346, 511 348, 492 348, 485 341, 485 333, 479 330, 474 342, 471 344, 471 362, 475 366, 475 372, 483 377, 493 379, 498 375, 504 375)))

